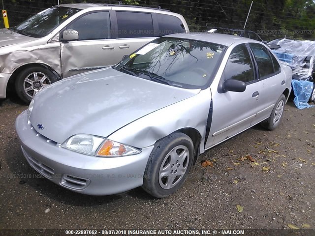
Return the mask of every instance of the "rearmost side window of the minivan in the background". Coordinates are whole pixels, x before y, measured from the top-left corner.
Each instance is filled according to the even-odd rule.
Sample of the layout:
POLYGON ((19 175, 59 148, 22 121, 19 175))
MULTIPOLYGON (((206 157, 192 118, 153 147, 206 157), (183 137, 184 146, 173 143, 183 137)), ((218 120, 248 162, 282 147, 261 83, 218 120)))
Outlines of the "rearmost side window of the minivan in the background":
POLYGON ((183 22, 176 16, 157 14, 158 36, 172 33, 185 33, 186 29, 183 22))

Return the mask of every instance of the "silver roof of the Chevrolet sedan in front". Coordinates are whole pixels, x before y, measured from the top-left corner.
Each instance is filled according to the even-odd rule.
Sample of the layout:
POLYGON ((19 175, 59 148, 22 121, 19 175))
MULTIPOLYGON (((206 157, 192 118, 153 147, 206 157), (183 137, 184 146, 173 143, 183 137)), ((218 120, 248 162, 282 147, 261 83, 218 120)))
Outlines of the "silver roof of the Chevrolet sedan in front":
POLYGON ((259 41, 223 33, 175 33, 164 37, 176 37, 221 44, 229 47, 233 43, 257 43, 259 41))

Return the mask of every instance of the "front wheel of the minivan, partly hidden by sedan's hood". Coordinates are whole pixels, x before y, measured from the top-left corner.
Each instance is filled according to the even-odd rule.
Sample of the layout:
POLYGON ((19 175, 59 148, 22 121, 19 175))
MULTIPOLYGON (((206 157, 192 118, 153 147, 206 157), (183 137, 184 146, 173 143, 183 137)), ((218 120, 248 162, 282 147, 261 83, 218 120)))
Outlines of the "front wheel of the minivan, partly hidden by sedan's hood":
POLYGON ((15 80, 15 90, 23 102, 30 103, 34 93, 57 81, 57 75, 51 70, 41 66, 32 66, 18 74, 15 80), (34 74, 37 75, 38 80, 35 80, 34 74), (27 79, 30 81, 27 82, 27 79), (44 81, 41 82, 40 79, 44 79, 44 81), (30 90, 26 91, 28 89, 30 90))

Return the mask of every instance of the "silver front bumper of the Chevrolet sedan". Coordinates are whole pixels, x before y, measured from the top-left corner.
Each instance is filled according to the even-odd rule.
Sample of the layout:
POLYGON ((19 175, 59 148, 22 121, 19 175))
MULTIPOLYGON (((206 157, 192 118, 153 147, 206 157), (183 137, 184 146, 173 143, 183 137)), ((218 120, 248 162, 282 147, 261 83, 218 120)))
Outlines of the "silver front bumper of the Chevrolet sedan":
POLYGON ((110 195, 139 187, 153 146, 137 155, 95 157, 65 148, 37 133, 27 112, 15 121, 23 154, 29 164, 54 183, 89 195, 110 195))

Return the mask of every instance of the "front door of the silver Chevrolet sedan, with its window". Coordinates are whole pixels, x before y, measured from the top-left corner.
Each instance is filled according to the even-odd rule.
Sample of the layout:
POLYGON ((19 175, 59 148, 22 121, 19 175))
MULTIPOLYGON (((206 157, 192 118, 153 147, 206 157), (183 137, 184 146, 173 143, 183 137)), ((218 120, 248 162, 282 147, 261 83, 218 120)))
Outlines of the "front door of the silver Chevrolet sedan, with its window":
POLYGON ((231 52, 218 84, 210 86, 213 115, 206 147, 210 148, 248 129, 257 112, 259 84, 254 64, 245 44, 237 45, 231 52), (246 83, 244 92, 221 91, 225 80, 246 83))

